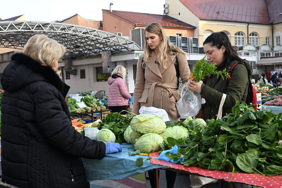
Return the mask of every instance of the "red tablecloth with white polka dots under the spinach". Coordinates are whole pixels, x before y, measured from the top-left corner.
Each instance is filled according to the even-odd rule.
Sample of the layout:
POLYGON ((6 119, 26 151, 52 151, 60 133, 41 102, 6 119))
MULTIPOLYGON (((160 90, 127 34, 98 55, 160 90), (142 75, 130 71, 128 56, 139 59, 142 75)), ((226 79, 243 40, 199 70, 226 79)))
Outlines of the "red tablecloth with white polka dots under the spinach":
MULTIPOLYGON (((149 154, 149 157, 158 157, 158 152, 149 154)), ((232 178, 232 172, 224 172, 218 170, 208 170, 202 169, 199 167, 193 166, 184 166, 182 164, 174 164, 168 161, 158 160, 151 158, 150 159, 152 164, 158 164, 163 166, 169 166, 174 169, 184 170, 191 173, 200 174, 206 177, 214 178, 214 179, 223 179, 225 181, 229 181, 232 178)), ((234 178, 231 180, 233 182, 240 182, 249 185, 259 186, 259 187, 275 187, 275 188, 282 188, 282 175, 279 176, 263 176, 260 174, 252 173, 236 173, 234 172, 234 178)))

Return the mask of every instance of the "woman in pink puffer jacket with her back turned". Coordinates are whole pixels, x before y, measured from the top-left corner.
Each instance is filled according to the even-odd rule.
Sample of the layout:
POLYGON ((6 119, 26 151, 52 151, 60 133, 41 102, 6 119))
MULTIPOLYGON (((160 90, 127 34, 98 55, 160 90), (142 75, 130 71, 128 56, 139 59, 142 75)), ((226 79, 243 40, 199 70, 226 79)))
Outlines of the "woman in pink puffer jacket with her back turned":
MULTIPOLYGON (((108 106, 112 112, 121 112, 127 110, 128 99, 131 95, 127 91, 124 81, 126 69, 123 66, 116 66, 112 72, 112 76, 108 79, 108 106)), ((121 114, 126 114, 122 112, 121 114)))

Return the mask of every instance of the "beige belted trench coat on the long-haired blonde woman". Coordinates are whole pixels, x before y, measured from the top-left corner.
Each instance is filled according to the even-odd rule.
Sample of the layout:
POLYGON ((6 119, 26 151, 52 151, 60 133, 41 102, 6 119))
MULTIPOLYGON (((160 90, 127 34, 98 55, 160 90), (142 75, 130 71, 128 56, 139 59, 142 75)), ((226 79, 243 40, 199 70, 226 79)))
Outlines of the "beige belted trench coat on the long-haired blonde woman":
POLYGON ((178 54, 182 86, 176 90, 177 77, 173 61, 169 62, 167 68, 160 67, 158 64, 155 64, 155 54, 152 53, 151 55, 152 61, 146 63, 145 74, 141 67, 141 57, 143 56, 137 62, 137 75, 133 94, 133 113, 139 114, 141 106, 154 106, 164 109, 170 120, 178 121, 177 101, 179 100, 183 85, 188 82, 190 76, 187 58, 182 53, 178 54))

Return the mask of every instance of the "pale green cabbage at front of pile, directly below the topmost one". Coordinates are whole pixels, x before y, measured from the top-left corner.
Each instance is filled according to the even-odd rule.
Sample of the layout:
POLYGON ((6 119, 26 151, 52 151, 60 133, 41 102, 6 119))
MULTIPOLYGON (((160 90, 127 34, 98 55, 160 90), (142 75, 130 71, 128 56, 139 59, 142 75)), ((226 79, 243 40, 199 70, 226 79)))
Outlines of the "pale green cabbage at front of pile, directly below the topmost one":
POLYGON ((157 133, 147 133, 136 140, 135 149, 139 149, 142 153, 151 153, 161 149, 163 138, 157 133))

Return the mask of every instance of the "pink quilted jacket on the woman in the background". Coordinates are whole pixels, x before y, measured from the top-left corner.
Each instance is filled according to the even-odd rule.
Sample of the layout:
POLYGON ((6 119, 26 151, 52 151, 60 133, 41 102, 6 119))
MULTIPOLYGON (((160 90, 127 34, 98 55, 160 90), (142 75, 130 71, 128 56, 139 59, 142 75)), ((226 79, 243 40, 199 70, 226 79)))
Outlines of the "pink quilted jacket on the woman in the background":
POLYGON ((128 106, 128 99, 131 95, 127 91, 127 86, 122 78, 108 79, 108 106, 128 106))

